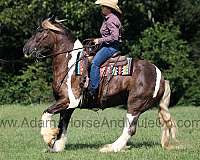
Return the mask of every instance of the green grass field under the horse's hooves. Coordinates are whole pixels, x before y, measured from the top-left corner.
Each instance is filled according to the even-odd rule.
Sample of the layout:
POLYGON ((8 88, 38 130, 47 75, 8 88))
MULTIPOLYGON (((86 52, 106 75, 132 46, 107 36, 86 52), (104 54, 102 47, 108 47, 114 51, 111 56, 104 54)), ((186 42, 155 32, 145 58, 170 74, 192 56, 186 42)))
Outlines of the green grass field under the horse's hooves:
MULTIPOLYGON (((131 148, 125 152, 107 154, 100 153, 99 148, 104 144, 114 142, 114 140, 120 136, 122 128, 115 127, 115 124, 108 127, 105 123, 103 124, 103 120, 104 122, 116 120, 121 123, 120 120, 125 116, 125 110, 114 108, 106 109, 104 111, 99 111, 98 115, 93 111, 77 109, 73 114, 73 122, 75 122, 75 124, 71 122, 69 126, 68 143, 65 151, 62 153, 44 153, 43 150, 46 148, 46 145, 40 136, 40 128, 38 125, 35 126, 33 123, 34 121, 32 122, 32 127, 26 122, 30 123, 30 121, 34 119, 39 121, 41 113, 45 108, 45 105, 0 106, 0 123, 2 120, 4 120, 4 122, 5 120, 17 120, 17 125, 20 125, 20 127, 0 127, 1 160, 200 159, 200 108, 176 107, 170 109, 173 117, 177 121, 185 121, 186 126, 180 126, 178 132, 178 139, 183 146, 182 149, 166 151, 161 148, 160 128, 152 124, 157 120, 157 110, 150 110, 140 117, 137 133, 132 137, 129 143, 131 148), (87 120, 93 120, 90 122, 96 123, 96 127, 94 127, 94 125, 91 127, 89 123, 86 123, 89 122, 87 120), (84 125, 78 127, 78 122, 83 122, 84 125), (100 122, 102 126, 98 127, 97 122, 100 122), (147 125, 147 123, 150 124, 147 125)), ((181 125, 181 123, 179 125, 181 125)))

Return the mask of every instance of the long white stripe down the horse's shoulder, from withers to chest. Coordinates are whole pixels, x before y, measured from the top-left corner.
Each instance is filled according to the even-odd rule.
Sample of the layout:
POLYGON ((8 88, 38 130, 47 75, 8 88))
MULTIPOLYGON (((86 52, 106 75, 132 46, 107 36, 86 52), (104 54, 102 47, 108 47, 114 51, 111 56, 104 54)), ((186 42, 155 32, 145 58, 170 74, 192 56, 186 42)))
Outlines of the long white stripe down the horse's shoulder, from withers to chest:
MULTIPOLYGON (((81 42, 79 40, 76 40, 76 42, 74 43, 73 49, 78 49, 82 47, 83 45, 81 44, 81 42)), ((70 100, 70 104, 68 108, 76 108, 79 105, 79 102, 82 98, 82 96, 80 96, 79 98, 75 98, 72 91, 72 86, 71 86, 71 77, 75 71, 76 58, 77 58, 78 53, 82 51, 83 49, 78 49, 70 53, 72 55, 72 58, 69 60, 69 63, 68 63, 69 72, 68 72, 68 79, 67 79, 67 88, 68 88, 67 90, 68 90, 68 96, 70 100)))

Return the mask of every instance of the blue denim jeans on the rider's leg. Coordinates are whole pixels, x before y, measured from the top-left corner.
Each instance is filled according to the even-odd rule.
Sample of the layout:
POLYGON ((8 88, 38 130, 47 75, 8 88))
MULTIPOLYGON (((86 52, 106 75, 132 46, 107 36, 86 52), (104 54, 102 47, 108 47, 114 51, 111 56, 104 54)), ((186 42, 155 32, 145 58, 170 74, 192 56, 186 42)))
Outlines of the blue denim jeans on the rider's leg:
POLYGON ((113 47, 102 47, 92 60, 89 90, 92 91, 93 93, 95 93, 100 83, 101 64, 106 60, 108 60, 110 57, 112 57, 112 55, 117 51, 118 49, 113 47))

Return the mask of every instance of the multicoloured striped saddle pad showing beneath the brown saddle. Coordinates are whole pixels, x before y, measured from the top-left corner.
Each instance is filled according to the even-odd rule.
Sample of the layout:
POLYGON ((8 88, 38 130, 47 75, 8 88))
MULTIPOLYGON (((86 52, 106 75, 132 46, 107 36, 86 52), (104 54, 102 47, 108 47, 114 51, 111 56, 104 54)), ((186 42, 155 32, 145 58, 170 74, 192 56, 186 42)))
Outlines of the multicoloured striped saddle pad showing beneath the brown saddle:
MULTIPOLYGON (((75 73, 76 75, 82 75, 83 74, 83 61, 79 61, 79 56, 77 56, 77 63, 75 67, 75 73)), ((114 66, 114 63, 110 63, 107 66, 100 67, 100 75, 102 76, 129 76, 131 75, 131 68, 132 68, 132 58, 127 58, 127 64, 126 65, 120 65, 120 66, 114 66)))

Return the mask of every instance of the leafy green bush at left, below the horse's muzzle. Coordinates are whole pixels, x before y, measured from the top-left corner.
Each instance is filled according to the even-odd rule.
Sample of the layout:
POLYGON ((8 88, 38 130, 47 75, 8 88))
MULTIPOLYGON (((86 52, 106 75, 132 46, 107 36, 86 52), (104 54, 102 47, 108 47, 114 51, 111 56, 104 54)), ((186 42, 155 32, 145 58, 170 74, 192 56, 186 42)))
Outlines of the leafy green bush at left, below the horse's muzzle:
POLYGON ((52 100, 51 84, 48 73, 42 63, 28 66, 21 75, 13 76, 0 72, 0 104, 9 103, 44 103, 52 100))

